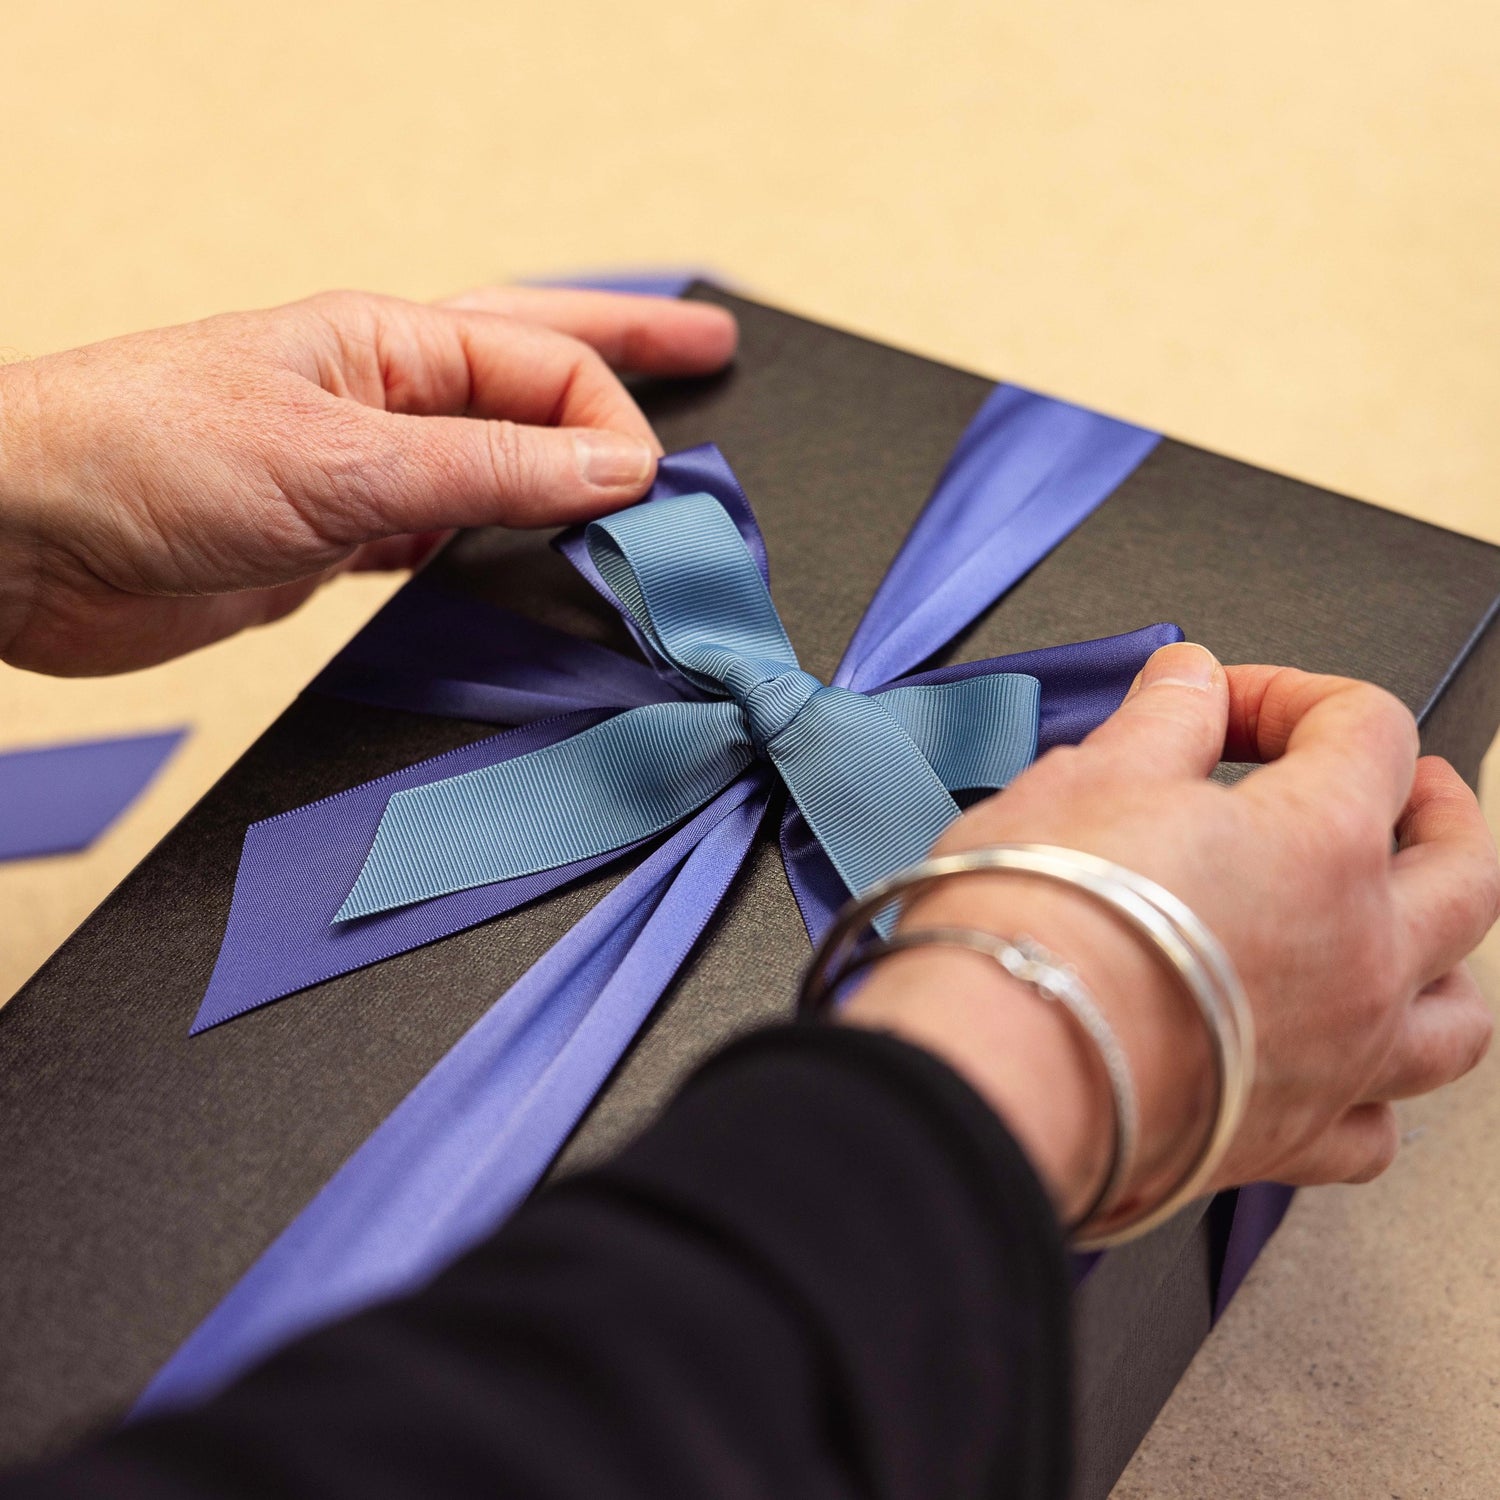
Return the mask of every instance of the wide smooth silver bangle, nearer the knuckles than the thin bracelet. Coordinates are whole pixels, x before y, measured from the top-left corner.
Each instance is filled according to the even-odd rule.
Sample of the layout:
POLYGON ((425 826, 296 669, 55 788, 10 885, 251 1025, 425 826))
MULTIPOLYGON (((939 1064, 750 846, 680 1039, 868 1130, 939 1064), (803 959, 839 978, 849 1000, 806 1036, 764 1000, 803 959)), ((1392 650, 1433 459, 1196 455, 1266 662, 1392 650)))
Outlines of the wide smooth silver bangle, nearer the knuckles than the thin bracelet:
POLYGON ((1155 1208, 1125 1224, 1106 1222, 1078 1245, 1102 1250, 1136 1239, 1164 1224, 1208 1190, 1244 1118, 1256 1058, 1250 1004, 1228 956, 1198 916, 1155 880, 1096 855, 1054 844, 996 844, 926 860, 898 870, 844 906, 813 954, 798 1006, 802 1011, 822 1010, 843 978, 864 966, 855 957, 866 945, 866 932, 876 916, 938 880, 975 873, 1030 874, 1090 896, 1150 944, 1192 998, 1208 1028, 1218 1107, 1197 1158, 1155 1208))

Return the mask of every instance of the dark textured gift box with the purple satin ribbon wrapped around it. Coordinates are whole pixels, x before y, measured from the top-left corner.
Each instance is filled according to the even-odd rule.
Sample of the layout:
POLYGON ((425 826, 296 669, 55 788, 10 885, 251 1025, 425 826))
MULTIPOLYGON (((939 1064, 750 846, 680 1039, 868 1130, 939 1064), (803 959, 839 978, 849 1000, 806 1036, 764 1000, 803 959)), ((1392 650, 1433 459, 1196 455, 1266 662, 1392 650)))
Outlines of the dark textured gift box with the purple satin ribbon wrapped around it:
MULTIPOLYGON (((1028 676, 1046 748, 1174 636, 1142 622, 1174 620, 1226 660, 1382 682, 1474 774, 1500 722, 1496 549, 690 296, 734 308, 741 354, 642 387, 666 446, 696 450, 651 504, 722 506, 798 664, 777 642, 774 670, 738 681, 744 706, 728 676, 694 684, 675 633, 642 645, 600 592, 627 603, 582 536, 466 532, 396 594, 0 1010, 0 1460, 147 1386, 147 1404, 188 1400, 418 1280, 540 1176, 628 1140, 723 1040, 789 1014, 844 880, 754 744, 780 723, 764 702, 746 717, 766 684, 812 700, 806 672, 878 704, 1028 676), (1083 460, 1083 434, 1114 446, 1113 471, 1083 460), (640 831, 612 824, 570 867, 334 921, 393 795, 510 776, 652 705, 738 722, 753 759, 634 848, 603 846, 640 831)), ((1284 1203, 1224 1196, 1080 1264, 1080 1497, 1107 1492, 1284 1203)))

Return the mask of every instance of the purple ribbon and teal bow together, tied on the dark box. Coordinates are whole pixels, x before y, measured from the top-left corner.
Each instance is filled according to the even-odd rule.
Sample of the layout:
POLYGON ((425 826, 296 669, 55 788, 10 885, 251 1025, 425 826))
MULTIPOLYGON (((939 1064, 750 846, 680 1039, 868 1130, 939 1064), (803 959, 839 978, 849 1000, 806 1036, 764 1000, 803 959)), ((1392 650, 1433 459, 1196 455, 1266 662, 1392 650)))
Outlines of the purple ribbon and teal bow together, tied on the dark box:
POLYGON ((664 459, 642 504, 558 542, 618 610, 645 668, 420 582, 404 591, 314 686, 530 723, 252 826, 195 1030, 660 842, 360 1148, 140 1410, 201 1396, 292 1334, 416 1284, 494 1228, 698 940, 777 783, 789 794, 783 860, 816 939, 850 891, 930 849, 958 816, 954 792, 1004 788, 1040 741, 1077 740, 1098 723, 1180 630, 912 668, 1101 504, 1155 441, 999 387, 828 686, 798 664, 753 510, 711 446, 664 459))

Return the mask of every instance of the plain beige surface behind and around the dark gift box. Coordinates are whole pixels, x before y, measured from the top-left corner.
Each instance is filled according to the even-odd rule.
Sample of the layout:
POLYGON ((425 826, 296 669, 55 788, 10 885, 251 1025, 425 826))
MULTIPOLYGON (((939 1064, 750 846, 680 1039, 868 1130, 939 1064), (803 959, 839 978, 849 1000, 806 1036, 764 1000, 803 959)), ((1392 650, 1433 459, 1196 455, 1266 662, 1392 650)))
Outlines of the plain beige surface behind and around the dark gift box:
MULTIPOLYGON (((4 0, 0 351, 708 264, 1500 542, 1497 84, 1455 0, 4 0)), ((0 746, 195 729, 96 849, 0 867, 0 994, 388 588, 129 678, 0 669, 0 746)), ((1304 1197, 1120 1494, 1496 1492, 1494 1082, 1304 1197)))

